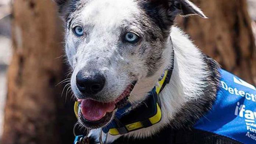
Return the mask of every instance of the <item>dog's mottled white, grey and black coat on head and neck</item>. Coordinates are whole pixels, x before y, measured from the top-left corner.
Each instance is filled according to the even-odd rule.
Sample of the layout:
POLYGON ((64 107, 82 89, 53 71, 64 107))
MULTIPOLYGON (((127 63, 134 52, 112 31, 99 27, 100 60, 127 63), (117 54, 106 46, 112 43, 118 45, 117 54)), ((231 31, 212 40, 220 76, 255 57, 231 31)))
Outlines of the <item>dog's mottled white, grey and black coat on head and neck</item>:
MULTIPOLYGON (((88 69, 86 74, 99 71, 107 77, 107 86, 95 95, 102 102, 113 101, 127 82, 138 80, 129 97, 136 106, 155 86, 164 69, 174 62, 170 84, 160 94, 161 122, 124 136, 110 137, 109 143, 235 143, 192 128, 211 109, 220 79, 217 62, 202 54, 173 26, 179 14, 206 18, 198 7, 188 0, 55 1, 65 22, 65 49, 74 70, 71 85, 77 98, 84 96, 77 90, 74 77, 80 69, 88 69), (84 37, 72 34, 77 24, 86 30, 84 37), (122 41, 130 30, 141 37, 138 43, 122 41)), ((92 130, 90 137, 98 139, 97 132, 92 130)))

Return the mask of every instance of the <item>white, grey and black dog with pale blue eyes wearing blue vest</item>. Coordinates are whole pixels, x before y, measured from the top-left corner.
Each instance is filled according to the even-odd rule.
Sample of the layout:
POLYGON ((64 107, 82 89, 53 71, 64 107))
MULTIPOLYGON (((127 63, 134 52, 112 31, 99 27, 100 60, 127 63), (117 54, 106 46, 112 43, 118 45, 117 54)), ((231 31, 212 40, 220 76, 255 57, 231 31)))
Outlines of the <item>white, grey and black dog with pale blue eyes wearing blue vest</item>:
POLYGON ((207 18, 191 1, 54 1, 65 26, 65 52, 72 68, 72 91, 78 100, 78 123, 90 129, 86 135, 89 143, 255 142, 253 122, 246 126, 240 119, 233 121, 256 116, 252 103, 255 102, 255 87, 222 70, 174 25, 177 15, 207 18), (232 88, 224 78, 229 79, 228 82, 234 78, 234 82, 246 91, 232 88), (151 104, 149 106, 145 101, 162 79, 168 79, 168 82, 156 96, 159 98, 157 105, 152 105, 153 111, 160 109, 161 116, 154 117, 159 118, 156 123, 146 124, 151 120, 147 118, 148 111, 138 107, 145 104, 145 109, 149 109, 151 104), (222 103, 227 100, 227 96, 223 96, 225 92, 236 99, 227 104, 229 113, 222 103), (143 128, 139 128, 138 123, 136 130, 117 128, 115 132, 118 134, 109 134, 104 141, 102 134, 110 130, 106 130, 106 126, 113 128, 113 121, 115 125, 121 123, 116 117, 121 113, 118 110, 128 104, 125 114, 130 111, 139 111, 139 114, 126 116, 126 121, 136 120, 137 116, 146 117, 139 123, 143 128), (249 108, 252 111, 249 112, 249 108), (242 126, 234 125, 241 122, 242 126), (236 126, 247 131, 237 132, 234 130, 236 126))

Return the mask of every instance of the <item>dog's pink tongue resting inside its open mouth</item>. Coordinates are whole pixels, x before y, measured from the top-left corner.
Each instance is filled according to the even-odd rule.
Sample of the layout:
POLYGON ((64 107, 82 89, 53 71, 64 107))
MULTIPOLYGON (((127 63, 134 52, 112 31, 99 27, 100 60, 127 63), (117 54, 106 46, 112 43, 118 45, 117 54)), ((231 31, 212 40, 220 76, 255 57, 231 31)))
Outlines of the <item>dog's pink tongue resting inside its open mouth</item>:
POLYGON ((81 111, 83 117, 89 121, 99 121, 107 112, 115 109, 115 103, 100 103, 91 99, 83 99, 81 101, 81 111))

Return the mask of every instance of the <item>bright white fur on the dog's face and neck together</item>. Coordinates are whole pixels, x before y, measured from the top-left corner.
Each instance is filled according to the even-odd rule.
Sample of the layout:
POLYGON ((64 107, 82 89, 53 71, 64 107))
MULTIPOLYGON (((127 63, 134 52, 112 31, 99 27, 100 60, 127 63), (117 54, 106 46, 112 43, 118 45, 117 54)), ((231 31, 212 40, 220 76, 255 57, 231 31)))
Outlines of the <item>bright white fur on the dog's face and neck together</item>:
MULTIPOLYGON (((188 0, 184 1, 196 11, 195 14, 206 18, 203 12, 193 3, 188 0)), ((149 128, 125 134, 125 136, 132 138, 150 137, 165 126, 168 126, 170 121, 173 120, 175 112, 184 107, 186 103, 194 101, 199 98, 199 96, 203 95, 203 92, 200 92, 200 90, 207 87, 205 77, 209 76, 209 73, 205 71, 207 65, 203 61, 202 53, 193 45, 188 36, 175 26, 171 27, 169 38, 164 44, 165 48, 161 51, 163 64, 161 64, 161 67, 153 76, 147 77, 147 67, 144 66, 145 61, 141 60, 144 57, 136 59, 134 58, 135 56, 121 56, 117 53, 114 57, 117 60, 113 59, 111 56, 121 48, 109 43, 117 42, 117 39, 119 39, 121 33, 120 25, 123 23, 124 19, 133 22, 136 20, 133 16, 140 15, 141 12, 134 0, 123 0, 121 2, 120 0, 90 0, 90 3, 79 11, 79 15, 74 16, 74 21, 85 27, 84 29, 90 35, 90 39, 89 37, 83 37, 81 40, 81 38, 75 37, 72 30, 67 30, 65 42, 67 57, 74 70, 71 80, 74 94, 76 96, 82 95, 76 86, 75 77, 78 71, 89 67, 89 64, 93 61, 92 58, 100 57, 97 61, 98 63, 95 62, 95 67, 104 72, 104 74, 107 75, 107 81, 109 81, 108 85, 105 86, 104 90, 99 94, 102 98, 105 98, 105 101, 115 100, 124 91, 124 88, 127 87, 127 81, 131 81, 127 73, 133 71, 138 75, 138 82, 130 94, 129 101, 133 104, 141 102, 145 99, 147 92, 157 85, 157 81, 163 71, 171 67, 171 63, 174 59, 174 69, 170 83, 166 85, 160 94, 162 103, 161 121, 149 128), (106 52, 106 49, 109 49, 109 51, 106 52), (173 50, 175 51, 174 58, 172 57, 173 50), (110 60, 114 63, 113 65, 115 67, 113 65, 107 67, 106 60, 110 60), (131 64, 127 66, 127 62, 131 64), (127 69, 129 69, 129 71, 127 69), (120 79, 120 77, 122 77, 122 79, 120 79)), ((76 23, 72 23, 71 27, 74 27, 76 23)), ((140 27, 136 26, 132 26, 132 29, 141 31, 140 27)), ((144 44, 150 46, 149 43, 145 42, 144 44)), ((156 49, 163 49, 159 48, 160 45, 158 46, 158 43, 155 44, 156 49)), ((131 47, 132 46, 130 46, 130 48, 131 47)), ((139 46, 136 48, 139 49, 139 46)), ((149 49, 154 48, 151 47, 149 49)), ((147 52, 147 54, 150 53, 147 52)), ((89 74, 90 73, 84 73, 86 76, 89 76, 89 74)), ((99 129, 91 130, 89 136, 98 140, 98 134, 99 129)), ((118 139, 118 137, 120 137, 120 135, 109 136, 108 142, 111 143, 118 139)))

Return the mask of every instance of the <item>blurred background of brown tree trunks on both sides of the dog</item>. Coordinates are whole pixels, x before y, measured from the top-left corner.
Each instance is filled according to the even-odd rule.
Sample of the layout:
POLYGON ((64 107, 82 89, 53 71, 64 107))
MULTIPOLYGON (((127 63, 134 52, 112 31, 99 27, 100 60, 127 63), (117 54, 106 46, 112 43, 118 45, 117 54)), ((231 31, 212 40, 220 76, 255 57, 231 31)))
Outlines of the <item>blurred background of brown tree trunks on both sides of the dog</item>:
MULTIPOLYGON (((256 83, 256 0, 192 0, 209 19, 177 18, 224 69, 256 83)), ((72 143, 76 122, 62 24, 51 0, 0 0, 0 143, 72 143), (58 85, 57 85, 58 84, 58 85), (62 96, 61 96, 61 93, 62 96)))

